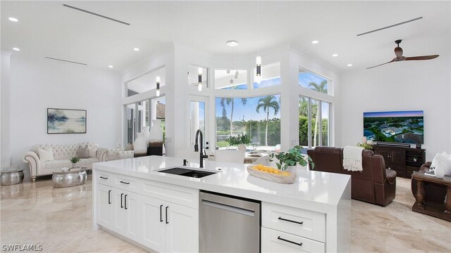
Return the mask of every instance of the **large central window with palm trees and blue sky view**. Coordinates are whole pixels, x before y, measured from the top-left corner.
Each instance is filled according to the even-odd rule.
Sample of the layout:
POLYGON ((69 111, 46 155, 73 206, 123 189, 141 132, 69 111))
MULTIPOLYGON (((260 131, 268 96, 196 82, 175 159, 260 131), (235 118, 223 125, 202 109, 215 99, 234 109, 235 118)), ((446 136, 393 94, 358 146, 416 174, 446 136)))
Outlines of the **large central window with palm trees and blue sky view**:
POLYGON ((216 98, 216 146, 246 134, 252 146, 271 150, 280 144, 280 95, 254 98, 216 98))

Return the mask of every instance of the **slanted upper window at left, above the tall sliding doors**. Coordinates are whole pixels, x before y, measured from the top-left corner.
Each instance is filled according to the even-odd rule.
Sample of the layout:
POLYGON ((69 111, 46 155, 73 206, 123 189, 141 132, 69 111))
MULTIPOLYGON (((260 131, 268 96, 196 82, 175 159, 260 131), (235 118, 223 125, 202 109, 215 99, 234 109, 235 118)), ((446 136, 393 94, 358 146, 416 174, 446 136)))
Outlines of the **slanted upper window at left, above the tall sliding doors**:
POLYGON ((160 87, 166 85, 166 67, 144 73, 141 76, 127 82, 127 96, 133 96, 144 91, 156 89, 156 76, 160 77, 160 87))

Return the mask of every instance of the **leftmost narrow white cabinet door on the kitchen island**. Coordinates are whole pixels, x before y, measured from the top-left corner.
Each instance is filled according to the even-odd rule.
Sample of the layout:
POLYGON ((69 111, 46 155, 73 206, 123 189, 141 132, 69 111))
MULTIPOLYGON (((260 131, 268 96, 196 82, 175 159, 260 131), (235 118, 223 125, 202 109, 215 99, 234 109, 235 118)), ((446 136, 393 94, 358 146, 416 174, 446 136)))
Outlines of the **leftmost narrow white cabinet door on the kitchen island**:
POLYGON ((97 223, 105 228, 113 228, 114 205, 113 188, 98 184, 97 186, 97 223))

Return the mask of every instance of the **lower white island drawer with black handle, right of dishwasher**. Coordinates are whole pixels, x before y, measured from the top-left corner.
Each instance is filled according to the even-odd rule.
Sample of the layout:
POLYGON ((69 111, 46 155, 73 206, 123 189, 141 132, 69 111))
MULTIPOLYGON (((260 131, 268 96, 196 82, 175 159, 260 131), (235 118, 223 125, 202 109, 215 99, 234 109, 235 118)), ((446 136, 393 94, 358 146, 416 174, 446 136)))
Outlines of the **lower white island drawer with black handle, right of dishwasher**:
POLYGON ((324 252, 324 243, 261 228, 261 252, 324 252))

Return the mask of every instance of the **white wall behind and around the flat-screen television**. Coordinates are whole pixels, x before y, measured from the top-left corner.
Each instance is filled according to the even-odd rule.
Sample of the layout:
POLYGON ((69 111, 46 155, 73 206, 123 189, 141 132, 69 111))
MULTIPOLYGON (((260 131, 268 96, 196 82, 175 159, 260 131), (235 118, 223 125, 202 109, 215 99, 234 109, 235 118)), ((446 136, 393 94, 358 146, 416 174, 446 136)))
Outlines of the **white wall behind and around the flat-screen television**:
POLYGON ((426 161, 435 153, 450 153, 450 62, 448 49, 435 60, 390 63, 342 74, 339 146, 362 142, 363 112, 424 110, 426 161))

